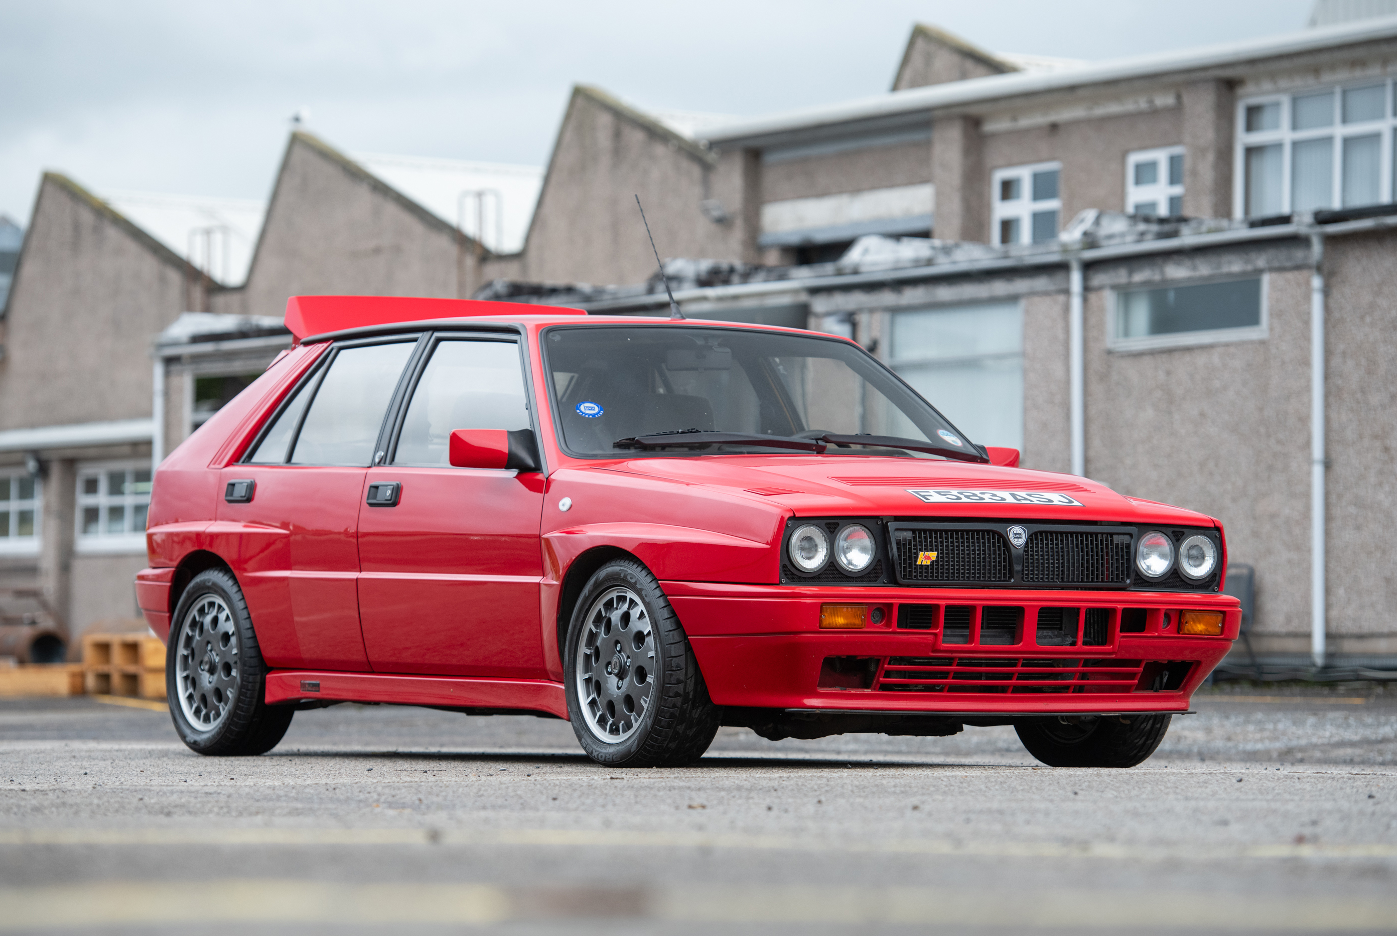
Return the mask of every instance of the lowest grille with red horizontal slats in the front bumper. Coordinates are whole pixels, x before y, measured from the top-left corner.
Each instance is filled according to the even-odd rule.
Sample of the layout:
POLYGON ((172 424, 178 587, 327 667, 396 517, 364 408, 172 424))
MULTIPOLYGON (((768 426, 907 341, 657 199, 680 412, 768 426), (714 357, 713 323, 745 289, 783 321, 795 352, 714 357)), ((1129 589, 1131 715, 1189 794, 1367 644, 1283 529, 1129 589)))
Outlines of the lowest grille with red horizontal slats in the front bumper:
POLYGON ((875 692, 900 693, 1129 693, 1139 659, 1023 659, 890 657, 875 692))

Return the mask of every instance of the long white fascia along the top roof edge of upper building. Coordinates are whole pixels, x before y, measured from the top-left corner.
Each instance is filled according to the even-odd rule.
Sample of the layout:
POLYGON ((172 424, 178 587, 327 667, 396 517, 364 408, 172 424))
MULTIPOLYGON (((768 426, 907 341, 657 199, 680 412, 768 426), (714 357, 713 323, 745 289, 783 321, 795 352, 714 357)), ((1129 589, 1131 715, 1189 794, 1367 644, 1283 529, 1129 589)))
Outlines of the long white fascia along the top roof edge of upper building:
POLYGON ((707 134, 707 140, 721 145, 735 140, 810 130, 827 124, 967 106, 1002 98, 1065 91, 1083 85, 1217 68, 1256 59, 1315 52, 1394 36, 1397 36, 1397 17, 1380 17, 1334 27, 1319 27, 1281 36, 1245 39, 1241 42, 1185 49, 1182 52, 1160 52, 1133 59, 1116 59, 1081 66, 1070 71, 1010 73, 983 78, 967 78, 964 81, 951 81, 925 88, 894 91, 876 98, 862 98, 844 103, 736 120, 729 124, 712 127, 707 134))

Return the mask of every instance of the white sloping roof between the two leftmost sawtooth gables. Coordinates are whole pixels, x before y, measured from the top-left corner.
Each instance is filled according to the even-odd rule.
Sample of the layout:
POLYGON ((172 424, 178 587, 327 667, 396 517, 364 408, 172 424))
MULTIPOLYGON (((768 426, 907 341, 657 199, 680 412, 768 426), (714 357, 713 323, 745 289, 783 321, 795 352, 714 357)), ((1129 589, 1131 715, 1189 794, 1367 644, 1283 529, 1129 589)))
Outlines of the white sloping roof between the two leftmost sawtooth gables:
POLYGON ((247 279, 267 215, 251 198, 110 191, 103 201, 224 286, 247 279))

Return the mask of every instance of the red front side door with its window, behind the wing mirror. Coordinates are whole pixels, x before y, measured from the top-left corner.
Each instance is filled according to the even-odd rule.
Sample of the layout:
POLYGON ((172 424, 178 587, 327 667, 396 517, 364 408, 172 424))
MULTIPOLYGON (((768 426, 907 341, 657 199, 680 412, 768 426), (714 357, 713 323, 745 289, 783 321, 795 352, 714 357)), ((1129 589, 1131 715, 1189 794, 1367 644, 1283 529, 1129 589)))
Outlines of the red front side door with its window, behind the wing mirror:
POLYGON ((543 678, 545 478, 447 460, 455 429, 532 427, 520 339, 437 335, 416 370, 359 507, 369 662, 376 672, 543 678))

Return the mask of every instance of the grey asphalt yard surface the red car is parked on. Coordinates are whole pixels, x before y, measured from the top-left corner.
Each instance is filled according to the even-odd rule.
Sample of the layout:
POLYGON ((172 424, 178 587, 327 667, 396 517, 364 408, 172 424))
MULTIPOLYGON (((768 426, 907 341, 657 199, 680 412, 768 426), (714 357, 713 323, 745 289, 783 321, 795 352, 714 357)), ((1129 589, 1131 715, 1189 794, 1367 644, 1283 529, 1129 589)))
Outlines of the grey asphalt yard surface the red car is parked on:
POLYGON ((203 759, 168 712, 0 701, 4 932, 1397 932, 1397 692, 1199 694, 1132 770, 1011 728, 585 760, 571 726, 296 715, 203 759))

